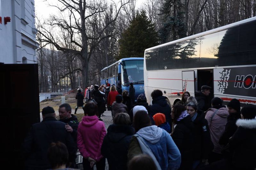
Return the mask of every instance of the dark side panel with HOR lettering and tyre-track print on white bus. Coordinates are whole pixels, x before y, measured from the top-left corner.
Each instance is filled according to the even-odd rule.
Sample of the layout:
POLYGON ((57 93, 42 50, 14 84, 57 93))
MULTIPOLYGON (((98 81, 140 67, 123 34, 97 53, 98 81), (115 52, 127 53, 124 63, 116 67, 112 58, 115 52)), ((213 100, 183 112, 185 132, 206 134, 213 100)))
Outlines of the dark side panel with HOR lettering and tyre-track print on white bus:
POLYGON ((225 103, 232 98, 241 105, 256 105, 256 66, 214 69, 214 96, 221 96, 225 103))

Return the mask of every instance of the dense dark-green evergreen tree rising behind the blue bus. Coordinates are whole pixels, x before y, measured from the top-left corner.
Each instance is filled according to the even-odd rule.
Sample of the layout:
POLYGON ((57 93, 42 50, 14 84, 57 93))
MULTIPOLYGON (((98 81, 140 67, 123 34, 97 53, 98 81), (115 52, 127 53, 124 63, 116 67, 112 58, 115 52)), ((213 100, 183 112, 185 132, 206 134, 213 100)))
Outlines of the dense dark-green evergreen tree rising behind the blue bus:
POLYGON ((154 24, 148 20, 145 11, 136 13, 130 26, 123 32, 119 40, 120 51, 117 58, 144 57, 146 48, 158 45, 154 24))

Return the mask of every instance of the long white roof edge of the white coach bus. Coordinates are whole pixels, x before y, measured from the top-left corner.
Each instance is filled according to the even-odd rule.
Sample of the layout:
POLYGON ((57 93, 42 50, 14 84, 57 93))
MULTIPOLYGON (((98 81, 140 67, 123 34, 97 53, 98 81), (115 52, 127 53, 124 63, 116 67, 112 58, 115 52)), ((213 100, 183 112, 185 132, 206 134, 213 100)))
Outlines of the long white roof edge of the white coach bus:
POLYGON ((181 42, 181 41, 190 40, 192 38, 208 35, 208 34, 211 34, 211 33, 223 31, 223 30, 226 30, 228 28, 239 26, 239 25, 242 25, 242 24, 245 24, 247 22, 254 21, 254 20, 256 20, 256 16, 252 17, 252 18, 244 19, 244 20, 241 20, 241 21, 238 21, 238 22, 234 22, 232 24, 228 24, 226 26, 222 26, 222 27, 214 28, 212 30, 204 31, 204 32, 201 32, 201 33, 198 33, 198 34, 195 34, 195 35, 190 35, 190 36, 187 36, 187 37, 184 37, 184 38, 181 38, 181 39, 178 39, 178 40, 174 40, 174 41, 171 41, 171 42, 168 42, 168 43, 160 44, 158 46, 147 48, 147 49, 145 49, 145 51, 152 50, 152 49, 159 48, 159 47, 166 46, 166 45, 173 44, 173 43, 178 43, 178 42, 181 42))

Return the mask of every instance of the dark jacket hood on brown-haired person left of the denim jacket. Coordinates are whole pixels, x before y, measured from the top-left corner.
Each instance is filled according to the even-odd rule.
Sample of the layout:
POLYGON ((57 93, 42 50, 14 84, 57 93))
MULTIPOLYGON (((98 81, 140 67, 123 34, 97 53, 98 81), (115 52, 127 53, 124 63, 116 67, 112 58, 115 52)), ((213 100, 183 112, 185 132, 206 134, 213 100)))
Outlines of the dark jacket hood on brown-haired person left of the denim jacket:
POLYGON ((108 127, 107 138, 113 143, 118 143, 126 136, 134 135, 134 133, 134 128, 129 125, 112 124, 108 127))

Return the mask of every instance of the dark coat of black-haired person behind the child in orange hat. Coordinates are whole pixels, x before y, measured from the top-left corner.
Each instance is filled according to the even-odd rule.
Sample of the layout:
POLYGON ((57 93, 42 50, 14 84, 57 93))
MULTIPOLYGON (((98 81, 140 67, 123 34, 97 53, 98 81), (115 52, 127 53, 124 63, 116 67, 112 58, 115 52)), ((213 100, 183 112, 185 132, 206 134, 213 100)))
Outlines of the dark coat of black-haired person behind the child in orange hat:
POLYGON ((165 114, 166 121, 172 127, 171 107, 168 105, 165 96, 159 96, 153 99, 151 109, 152 109, 152 116, 155 115, 156 113, 165 114))

